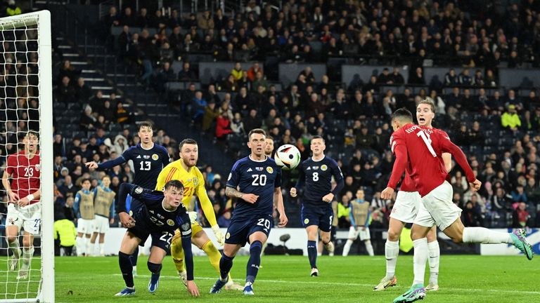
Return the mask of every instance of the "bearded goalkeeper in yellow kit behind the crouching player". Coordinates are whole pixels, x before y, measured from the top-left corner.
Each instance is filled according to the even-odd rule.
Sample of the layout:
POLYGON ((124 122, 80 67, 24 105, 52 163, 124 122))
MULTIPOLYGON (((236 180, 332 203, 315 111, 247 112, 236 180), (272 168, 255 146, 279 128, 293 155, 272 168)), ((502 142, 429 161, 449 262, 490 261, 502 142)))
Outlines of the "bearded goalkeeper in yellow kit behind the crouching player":
MULTIPOLYGON (((184 203, 189 210, 191 209, 191 198, 194 194, 198 196, 206 220, 212 226, 212 231, 214 231, 218 243, 223 245, 225 237, 217 225, 214 208, 206 193, 203 174, 200 173, 200 170, 196 167, 199 157, 198 144, 193 139, 186 139, 180 142, 179 150, 180 159, 169 163, 169 165, 163 168, 158 176, 158 184, 155 189, 162 190, 163 186, 170 180, 180 180, 182 184, 184 184, 184 198, 182 199, 182 203, 184 203)), ((196 214, 190 213, 190 217, 192 229, 191 242, 197 245, 201 250, 205 251, 210 258, 210 264, 212 264, 214 269, 219 273, 221 253, 219 253, 219 250, 214 246, 214 243, 210 241, 210 238, 208 238, 203 227, 200 227, 198 222, 195 221, 196 214)), ((174 266, 185 285, 187 276, 186 269, 184 268, 184 250, 182 249, 181 235, 178 230, 176 230, 176 233, 172 238, 171 255, 174 266)), ((231 276, 229 276, 229 282, 225 286, 227 290, 243 290, 242 286, 233 283, 231 276)))

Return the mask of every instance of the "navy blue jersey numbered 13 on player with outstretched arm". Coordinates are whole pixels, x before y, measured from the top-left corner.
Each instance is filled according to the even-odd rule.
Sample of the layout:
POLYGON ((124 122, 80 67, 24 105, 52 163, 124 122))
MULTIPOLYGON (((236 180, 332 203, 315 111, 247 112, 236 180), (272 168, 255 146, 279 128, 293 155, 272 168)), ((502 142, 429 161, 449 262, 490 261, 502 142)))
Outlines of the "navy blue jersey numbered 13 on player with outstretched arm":
POLYGON ((101 163, 98 167, 113 168, 129 160, 133 161, 135 170, 133 183, 146 189, 153 189, 158 183, 161 170, 169 164, 169 152, 158 144, 154 144, 151 149, 143 149, 139 143, 126 149, 117 159, 101 163))

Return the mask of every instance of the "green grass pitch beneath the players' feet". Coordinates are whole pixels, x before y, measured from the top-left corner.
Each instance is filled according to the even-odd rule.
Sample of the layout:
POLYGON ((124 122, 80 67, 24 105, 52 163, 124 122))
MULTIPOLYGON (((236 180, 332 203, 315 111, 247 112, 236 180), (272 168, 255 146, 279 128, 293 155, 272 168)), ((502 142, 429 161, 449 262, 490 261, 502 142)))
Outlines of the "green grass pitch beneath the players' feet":
MULTIPOLYGON (((231 271, 243 284, 248 257, 237 257, 231 271)), ((263 256, 254 285, 255 297, 242 292, 225 291, 210 295, 217 278, 207 257, 195 257, 195 283, 201 296, 191 299, 166 257, 158 292, 150 295, 146 257, 139 257, 134 297, 113 297, 122 290, 117 257, 56 257, 56 302, 392 302, 412 282, 412 257, 400 256, 398 285, 373 292, 385 273, 383 256, 319 257, 321 276, 309 276, 307 257, 263 256)), ((3 258, 0 264, 7 264, 3 258)), ((5 266, 5 265, 3 265, 5 266)), ((5 271, 4 268, 0 268, 5 271)), ((426 281, 429 274, 426 273, 426 281)), ((0 277, 0 299, 13 292, 15 273, 0 277)), ((428 292, 425 302, 540 302, 540 265, 523 256, 483 257, 478 255, 442 255, 440 290, 428 292)), ((19 291, 26 283, 19 283, 19 291)), ((30 288, 35 288, 30 285, 30 288)), ((35 291, 35 290, 34 290, 35 291)))

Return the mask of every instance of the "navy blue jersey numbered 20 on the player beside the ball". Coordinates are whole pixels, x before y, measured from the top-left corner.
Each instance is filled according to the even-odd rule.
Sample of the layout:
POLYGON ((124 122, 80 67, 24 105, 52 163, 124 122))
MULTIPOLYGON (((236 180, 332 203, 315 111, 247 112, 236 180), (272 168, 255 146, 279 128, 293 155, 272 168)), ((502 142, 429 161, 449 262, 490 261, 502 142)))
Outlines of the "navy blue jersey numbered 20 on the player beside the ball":
POLYGON ((239 191, 244 194, 259 196, 253 204, 238 199, 233 218, 272 215, 274 189, 281 187, 281 168, 274 159, 267 157, 264 161, 254 161, 247 156, 234 163, 227 187, 239 187, 239 191))

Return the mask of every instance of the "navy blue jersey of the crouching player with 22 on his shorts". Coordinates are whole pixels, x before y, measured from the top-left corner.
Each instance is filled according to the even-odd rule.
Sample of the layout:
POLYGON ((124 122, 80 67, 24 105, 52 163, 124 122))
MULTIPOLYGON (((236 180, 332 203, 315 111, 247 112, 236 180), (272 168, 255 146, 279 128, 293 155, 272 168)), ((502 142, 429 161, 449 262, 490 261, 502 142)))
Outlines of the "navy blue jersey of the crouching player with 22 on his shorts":
POLYGON ((168 231, 174 234, 176 229, 180 229, 182 237, 191 236, 191 221, 184 204, 180 203, 180 206, 173 211, 165 210, 162 206, 163 198, 165 198, 162 191, 144 189, 131 183, 122 183, 120 186, 123 187, 120 190, 121 201, 130 194, 143 204, 143 207, 132 215, 136 221, 135 224, 141 224, 142 220, 151 231, 168 231))

